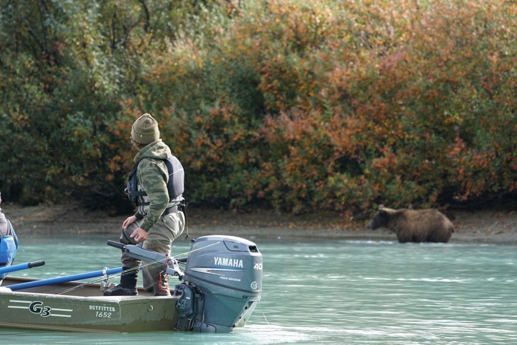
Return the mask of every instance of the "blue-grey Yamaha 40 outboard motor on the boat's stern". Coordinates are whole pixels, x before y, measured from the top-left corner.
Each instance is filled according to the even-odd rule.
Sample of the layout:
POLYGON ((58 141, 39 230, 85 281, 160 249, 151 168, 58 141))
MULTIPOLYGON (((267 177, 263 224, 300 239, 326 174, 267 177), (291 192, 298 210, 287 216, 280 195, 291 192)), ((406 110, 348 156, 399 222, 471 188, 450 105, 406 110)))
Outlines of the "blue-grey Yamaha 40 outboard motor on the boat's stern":
POLYGON ((261 299, 262 254, 247 239, 203 236, 192 243, 175 329, 195 332, 232 332, 248 321, 261 299))

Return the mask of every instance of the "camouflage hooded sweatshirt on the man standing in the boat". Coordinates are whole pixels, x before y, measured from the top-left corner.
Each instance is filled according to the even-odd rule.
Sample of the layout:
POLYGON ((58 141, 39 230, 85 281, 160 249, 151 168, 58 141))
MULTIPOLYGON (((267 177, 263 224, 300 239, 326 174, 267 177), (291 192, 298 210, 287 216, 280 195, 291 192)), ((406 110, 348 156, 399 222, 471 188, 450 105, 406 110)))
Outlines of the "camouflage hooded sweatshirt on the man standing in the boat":
POLYGON ((147 193, 147 196, 139 197, 139 204, 149 202, 149 205, 140 205, 135 213, 136 218, 143 218, 140 227, 145 231, 149 231, 154 226, 165 208, 177 204, 177 202, 169 202, 167 191, 169 173, 164 160, 170 155, 169 146, 158 139, 142 148, 134 157, 134 161, 138 163, 138 169, 136 169, 138 190, 147 193))

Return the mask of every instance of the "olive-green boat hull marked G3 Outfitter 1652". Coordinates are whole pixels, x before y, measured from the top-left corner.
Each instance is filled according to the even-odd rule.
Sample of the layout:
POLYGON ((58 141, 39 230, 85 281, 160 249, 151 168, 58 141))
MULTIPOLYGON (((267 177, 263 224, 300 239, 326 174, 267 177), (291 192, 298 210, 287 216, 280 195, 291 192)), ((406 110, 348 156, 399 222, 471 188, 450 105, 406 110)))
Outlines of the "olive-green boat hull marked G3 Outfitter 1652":
MULTIPOLYGON (((33 281, 6 277, 2 286, 33 281)), ((83 332, 173 331, 178 318, 178 296, 152 296, 139 289, 138 296, 103 296, 99 284, 79 287, 68 282, 6 291, 0 287, 0 327, 83 332)))

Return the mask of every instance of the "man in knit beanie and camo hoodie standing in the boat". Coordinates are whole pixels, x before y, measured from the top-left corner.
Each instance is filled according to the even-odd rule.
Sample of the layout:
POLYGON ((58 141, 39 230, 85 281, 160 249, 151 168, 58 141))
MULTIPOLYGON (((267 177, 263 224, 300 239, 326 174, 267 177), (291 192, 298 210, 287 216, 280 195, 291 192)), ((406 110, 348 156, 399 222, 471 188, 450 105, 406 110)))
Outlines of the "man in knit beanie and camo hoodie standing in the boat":
MULTIPOLYGON (((138 150, 128 178, 129 200, 138 209, 122 224, 120 243, 169 255, 172 242, 185 228, 184 170, 171 149, 160 139, 158 123, 144 114, 133 124, 131 142, 138 150)), ((120 284, 104 291, 105 296, 136 295, 140 261, 122 254, 120 284)), ((170 295, 164 263, 144 263, 144 288, 155 296, 170 295)))

